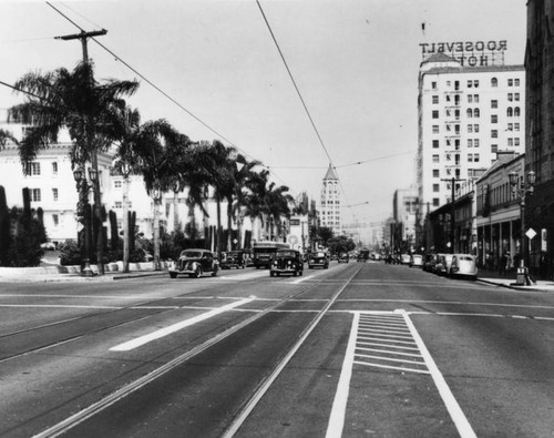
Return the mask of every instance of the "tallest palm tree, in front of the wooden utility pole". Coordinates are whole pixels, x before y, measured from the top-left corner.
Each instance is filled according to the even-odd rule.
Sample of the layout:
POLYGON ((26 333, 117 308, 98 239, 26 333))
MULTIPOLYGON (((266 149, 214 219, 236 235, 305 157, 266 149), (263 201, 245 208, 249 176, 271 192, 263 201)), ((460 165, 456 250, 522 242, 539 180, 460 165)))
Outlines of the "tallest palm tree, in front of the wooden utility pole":
MULTIPOLYGON (((73 71, 60 68, 52 72, 30 72, 14 84, 25 94, 25 102, 12 106, 10 116, 33 125, 20 143, 24 165, 52 143, 58 142, 62 129, 72 140, 69 152, 71 166, 84 167, 89 162, 98 171, 98 153, 106 151, 116 137, 117 111, 125 106, 123 96, 138 88, 136 81, 94 80, 93 67, 82 62, 73 71)), ((100 182, 94 186, 96 217, 101 216, 100 182)), ((98 234, 99 273, 103 274, 103 233, 98 234)))

